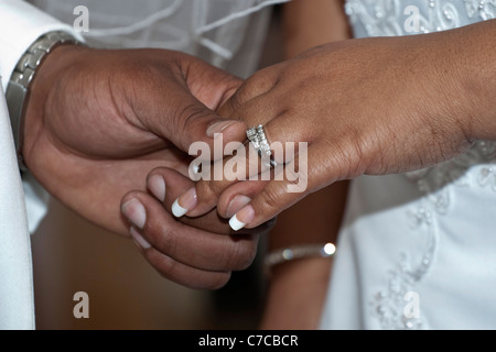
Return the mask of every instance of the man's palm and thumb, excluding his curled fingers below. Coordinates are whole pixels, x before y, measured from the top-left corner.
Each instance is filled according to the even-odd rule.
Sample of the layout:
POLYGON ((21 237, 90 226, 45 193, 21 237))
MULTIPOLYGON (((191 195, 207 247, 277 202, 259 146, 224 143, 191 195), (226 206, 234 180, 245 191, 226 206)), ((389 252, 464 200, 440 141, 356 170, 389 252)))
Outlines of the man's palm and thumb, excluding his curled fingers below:
MULTIPOLYGON (((162 50, 61 46, 33 80, 23 154, 37 180, 91 222, 128 234, 119 204, 145 189, 153 168, 185 173, 191 143, 241 139, 216 116, 240 80, 195 57, 162 50)), ((213 148, 212 148, 213 150, 213 148)))

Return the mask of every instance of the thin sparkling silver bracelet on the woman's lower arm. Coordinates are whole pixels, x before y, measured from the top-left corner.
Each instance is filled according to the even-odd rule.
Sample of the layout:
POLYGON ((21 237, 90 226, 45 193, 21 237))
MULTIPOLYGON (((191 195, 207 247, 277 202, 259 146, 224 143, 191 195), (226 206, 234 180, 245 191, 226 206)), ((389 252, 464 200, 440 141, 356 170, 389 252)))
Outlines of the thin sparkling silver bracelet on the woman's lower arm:
POLYGON ((270 267, 284 262, 311 256, 330 257, 335 252, 336 246, 332 243, 296 245, 269 253, 263 264, 268 272, 270 267))

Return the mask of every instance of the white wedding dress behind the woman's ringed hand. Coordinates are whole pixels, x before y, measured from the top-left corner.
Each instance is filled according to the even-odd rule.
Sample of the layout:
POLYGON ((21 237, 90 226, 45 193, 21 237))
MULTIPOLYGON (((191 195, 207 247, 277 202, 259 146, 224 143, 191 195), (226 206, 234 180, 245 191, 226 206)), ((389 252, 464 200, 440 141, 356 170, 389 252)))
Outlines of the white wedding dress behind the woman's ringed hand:
MULTIPOLYGON (((488 0, 348 0, 346 12, 355 36, 407 35, 411 6, 421 33, 496 15, 488 0)), ((495 206, 494 142, 429 169, 354 180, 321 328, 495 329, 495 206)))

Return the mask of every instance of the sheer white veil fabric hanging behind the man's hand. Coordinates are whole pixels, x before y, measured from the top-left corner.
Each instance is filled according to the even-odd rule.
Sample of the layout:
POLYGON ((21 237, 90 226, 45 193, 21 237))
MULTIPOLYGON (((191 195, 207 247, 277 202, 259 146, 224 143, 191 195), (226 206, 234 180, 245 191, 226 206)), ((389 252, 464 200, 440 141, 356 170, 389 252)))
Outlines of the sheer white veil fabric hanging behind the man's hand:
POLYGON ((255 70, 270 6, 288 0, 31 0, 74 23, 77 6, 89 13, 89 44, 185 52, 246 77, 255 70), (250 15, 252 14, 252 15, 250 15))

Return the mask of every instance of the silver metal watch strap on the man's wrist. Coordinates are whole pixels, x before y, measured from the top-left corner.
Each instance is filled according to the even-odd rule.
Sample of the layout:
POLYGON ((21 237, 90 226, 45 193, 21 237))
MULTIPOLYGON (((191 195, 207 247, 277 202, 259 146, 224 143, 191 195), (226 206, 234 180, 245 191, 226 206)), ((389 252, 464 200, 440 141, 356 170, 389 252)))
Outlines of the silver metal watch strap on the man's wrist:
POLYGON ((22 160, 22 117, 24 114, 24 102, 26 101, 30 84, 34 78, 36 68, 41 65, 46 54, 61 44, 78 44, 78 41, 66 32, 50 32, 40 36, 22 55, 15 65, 9 84, 7 86, 6 99, 9 108, 10 123, 18 154, 19 167, 25 170, 22 160))

